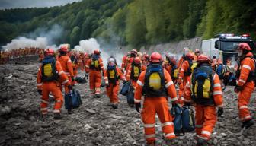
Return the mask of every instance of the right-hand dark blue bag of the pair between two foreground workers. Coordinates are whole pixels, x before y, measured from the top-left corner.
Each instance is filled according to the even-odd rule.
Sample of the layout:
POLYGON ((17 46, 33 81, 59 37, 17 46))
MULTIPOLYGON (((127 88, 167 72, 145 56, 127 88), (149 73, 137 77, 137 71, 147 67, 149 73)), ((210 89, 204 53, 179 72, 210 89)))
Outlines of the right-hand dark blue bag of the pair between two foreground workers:
POLYGON ((195 129, 194 111, 190 106, 182 106, 182 129, 183 132, 193 132, 195 129))

